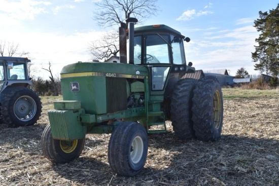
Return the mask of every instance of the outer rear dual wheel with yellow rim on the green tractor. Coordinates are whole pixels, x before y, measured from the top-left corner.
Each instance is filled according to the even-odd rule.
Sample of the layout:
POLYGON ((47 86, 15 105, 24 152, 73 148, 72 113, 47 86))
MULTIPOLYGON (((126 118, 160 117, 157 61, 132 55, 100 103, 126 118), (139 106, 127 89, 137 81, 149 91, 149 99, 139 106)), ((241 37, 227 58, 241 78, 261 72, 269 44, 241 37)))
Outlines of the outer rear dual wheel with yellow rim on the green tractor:
POLYGON ((203 77, 194 90, 192 121, 195 135, 202 141, 216 141, 223 126, 223 95, 215 77, 203 77))

